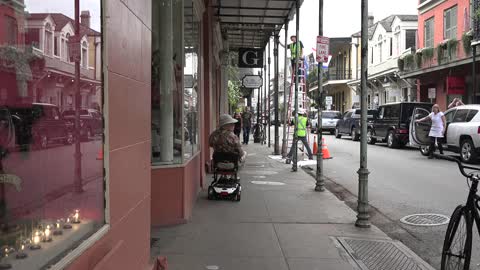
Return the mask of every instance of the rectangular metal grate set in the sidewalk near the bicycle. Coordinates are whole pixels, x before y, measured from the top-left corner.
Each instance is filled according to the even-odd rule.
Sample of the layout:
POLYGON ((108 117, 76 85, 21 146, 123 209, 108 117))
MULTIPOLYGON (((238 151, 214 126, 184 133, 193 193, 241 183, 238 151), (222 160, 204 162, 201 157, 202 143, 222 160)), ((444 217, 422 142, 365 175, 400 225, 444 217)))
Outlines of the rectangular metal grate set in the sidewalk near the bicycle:
POLYGON ((433 270, 398 241, 347 237, 338 240, 362 270, 433 270))

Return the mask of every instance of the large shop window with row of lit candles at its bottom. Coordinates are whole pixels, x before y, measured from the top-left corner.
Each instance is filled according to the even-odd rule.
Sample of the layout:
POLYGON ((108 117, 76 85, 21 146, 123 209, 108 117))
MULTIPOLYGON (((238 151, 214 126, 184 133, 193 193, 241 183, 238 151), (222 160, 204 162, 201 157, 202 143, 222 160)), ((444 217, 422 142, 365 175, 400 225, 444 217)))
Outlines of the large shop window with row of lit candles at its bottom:
MULTIPOLYGON (((16 46, 0 44, 1 269, 50 269, 105 225, 104 164, 97 159, 103 147, 103 120, 64 115, 57 103, 62 95, 80 91, 71 82, 75 73, 70 66, 62 68, 58 58, 45 61, 47 55, 60 53, 54 25, 44 22, 39 30, 29 22, 47 20, 50 14, 45 10, 52 16, 75 14, 74 1, 69 1, 64 5, 45 0, 32 6, 35 1, 0 1, 0 10, 15 12, 25 27, 16 46), (45 55, 24 49, 36 44, 37 33, 45 55), (20 43, 24 40, 26 44, 20 43), (5 55, 15 58, 3 65, 5 55)), ((100 1, 94 2, 81 0, 80 5, 100 22, 100 1)), ((8 27, 0 24, 0 33, 8 27)), ((101 60, 100 53, 96 57, 101 60)), ((102 89, 102 81, 84 75, 80 86, 94 93, 102 89)))

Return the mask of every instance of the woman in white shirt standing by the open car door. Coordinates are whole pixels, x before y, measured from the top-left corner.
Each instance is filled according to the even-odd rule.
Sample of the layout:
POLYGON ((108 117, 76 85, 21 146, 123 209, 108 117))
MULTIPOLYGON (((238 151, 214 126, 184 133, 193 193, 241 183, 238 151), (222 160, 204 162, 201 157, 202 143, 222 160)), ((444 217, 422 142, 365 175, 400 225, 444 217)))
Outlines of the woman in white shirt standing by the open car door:
POLYGON ((415 122, 424 122, 427 120, 432 121, 432 126, 430 127, 430 133, 428 136, 430 137, 430 149, 429 149, 429 159, 433 158, 433 153, 435 152, 435 143, 438 145, 438 150, 440 154, 443 155, 443 147, 442 147, 442 140, 445 135, 445 129, 447 127, 447 121, 445 120, 445 116, 440 111, 440 107, 438 104, 433 105, 432 112, 422 118, 415 120, 415 122))

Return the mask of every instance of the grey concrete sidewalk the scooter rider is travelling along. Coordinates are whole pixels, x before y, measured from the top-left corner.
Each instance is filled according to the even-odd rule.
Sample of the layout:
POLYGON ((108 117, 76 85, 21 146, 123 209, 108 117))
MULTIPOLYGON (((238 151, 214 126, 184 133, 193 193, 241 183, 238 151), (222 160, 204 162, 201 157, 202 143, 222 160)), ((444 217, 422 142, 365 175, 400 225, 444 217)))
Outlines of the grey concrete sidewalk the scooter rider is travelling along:
POLYGON ((240 202, 203 191, 189 223, 153 228, 152 257, 166 256, 169 270, 433 269, 375 226, 356 228, 354 211, 272 149, 245 147, 240 202))

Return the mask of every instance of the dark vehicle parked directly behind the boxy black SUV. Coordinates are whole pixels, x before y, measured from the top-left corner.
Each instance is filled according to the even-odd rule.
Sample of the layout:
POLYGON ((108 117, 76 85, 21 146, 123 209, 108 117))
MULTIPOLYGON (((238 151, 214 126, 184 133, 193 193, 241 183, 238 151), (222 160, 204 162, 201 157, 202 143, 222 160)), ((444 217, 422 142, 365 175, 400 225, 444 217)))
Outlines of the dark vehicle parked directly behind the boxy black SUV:
MULTIPOLYGON (((360 118, 362 110, 351 109, 343 114, 343 117, 337 121, 335 127, 335 137, 341 138, 342 135, 351 136, 353 141, 360 139, 360 118)), ((376 110, 368 110, 367 117, 372 120, 376 115, 376 110)))

